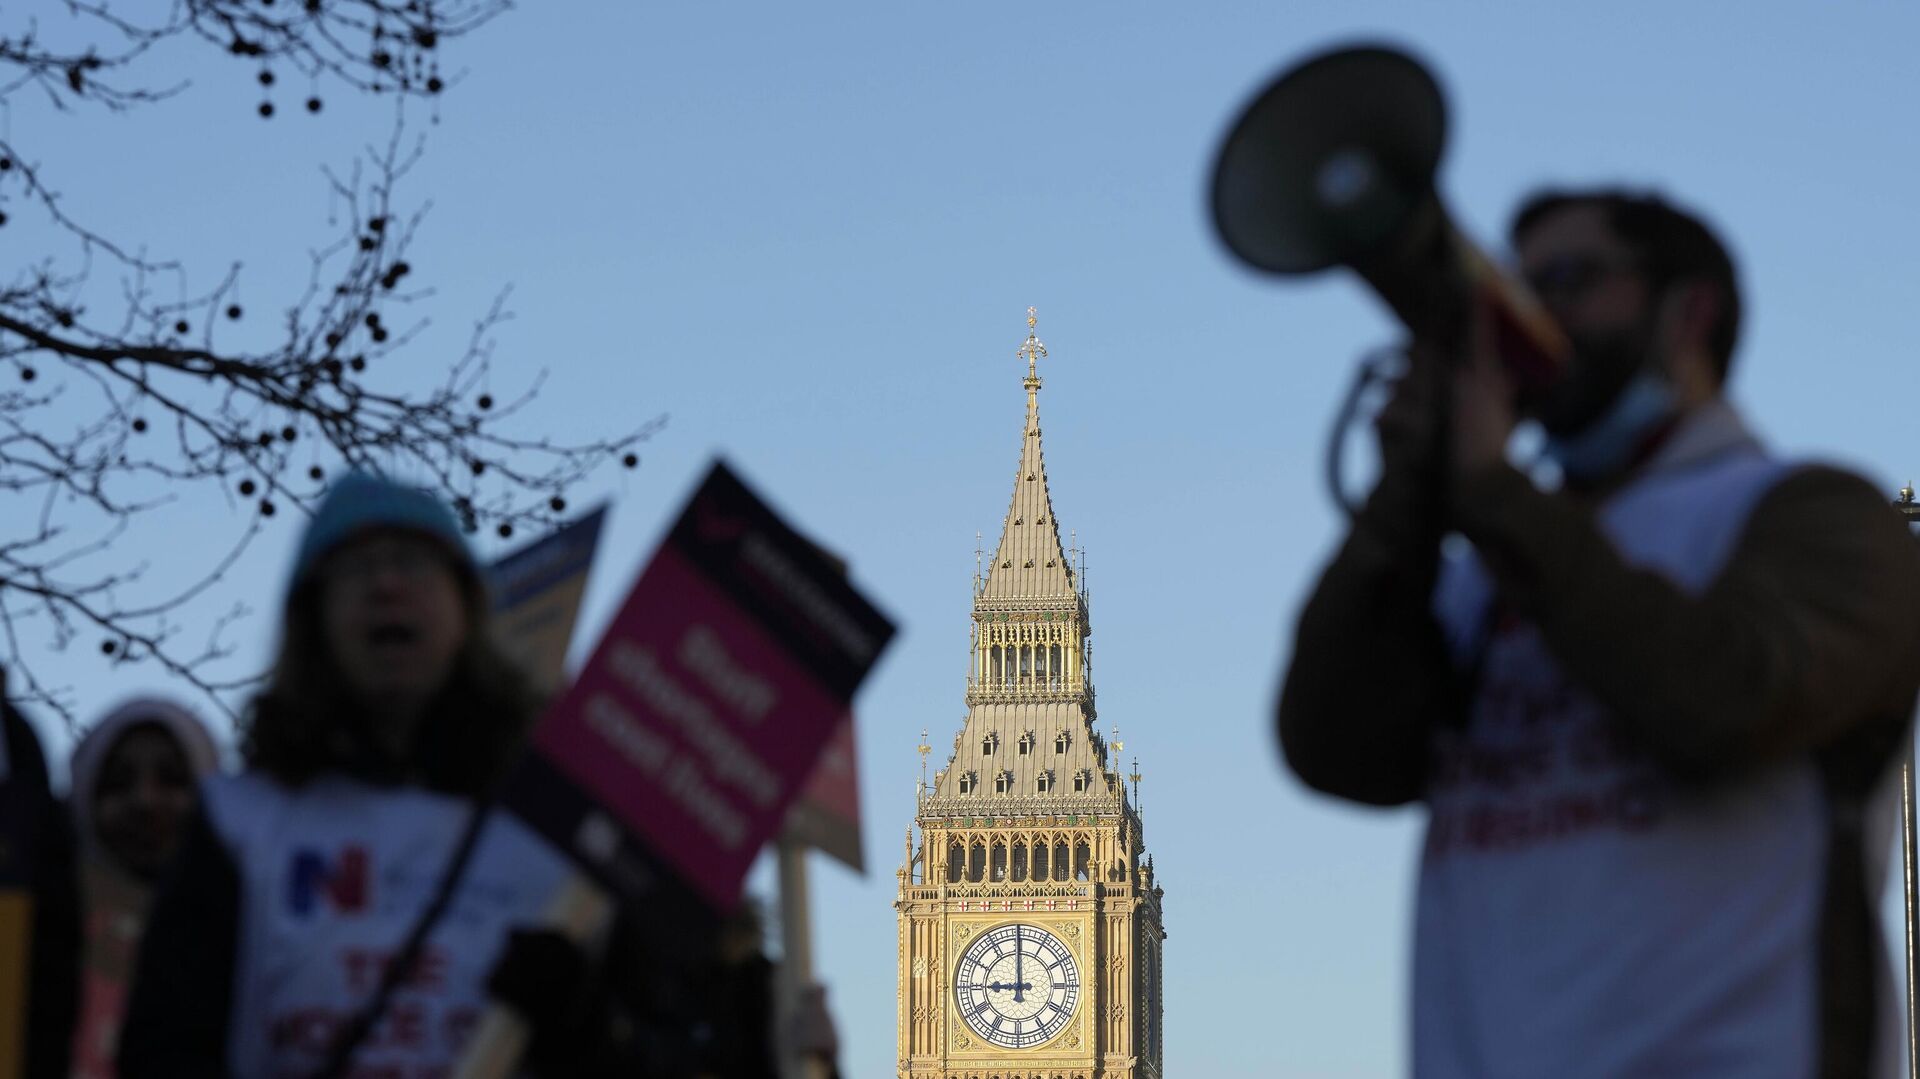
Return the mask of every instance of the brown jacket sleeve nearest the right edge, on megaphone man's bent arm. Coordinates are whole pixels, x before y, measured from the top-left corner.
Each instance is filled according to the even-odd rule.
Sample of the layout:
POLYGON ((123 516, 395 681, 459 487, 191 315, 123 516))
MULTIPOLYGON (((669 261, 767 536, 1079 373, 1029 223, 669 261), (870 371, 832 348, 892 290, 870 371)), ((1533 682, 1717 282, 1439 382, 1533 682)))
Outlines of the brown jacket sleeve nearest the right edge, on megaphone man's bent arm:
POLYGON ((1680 776, 1711 778, 1907 722, 1920 547, 1864 480, 1801 468, 1699 595, 1628 566, 1578 503, 1500 467, 1457 522, 1567 674, 1680 776))

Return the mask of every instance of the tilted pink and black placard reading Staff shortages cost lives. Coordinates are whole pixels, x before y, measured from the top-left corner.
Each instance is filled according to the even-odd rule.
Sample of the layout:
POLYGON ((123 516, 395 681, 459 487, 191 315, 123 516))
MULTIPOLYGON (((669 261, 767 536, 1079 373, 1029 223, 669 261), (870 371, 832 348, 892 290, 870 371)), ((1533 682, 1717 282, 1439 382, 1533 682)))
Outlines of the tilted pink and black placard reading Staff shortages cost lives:
POLYGON ((728 908, 893 626, 716 465, 505 803, 630 895, 728 908))

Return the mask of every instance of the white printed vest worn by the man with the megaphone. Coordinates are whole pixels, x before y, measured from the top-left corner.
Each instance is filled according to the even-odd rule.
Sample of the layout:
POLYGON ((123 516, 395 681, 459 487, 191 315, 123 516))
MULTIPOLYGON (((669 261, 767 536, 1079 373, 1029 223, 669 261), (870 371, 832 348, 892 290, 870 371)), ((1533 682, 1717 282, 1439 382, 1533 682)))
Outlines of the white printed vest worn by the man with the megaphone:
MULTIPOLYGON (((1786 472, 1741 440, 1636 480, 1599 526, 1699 593, 1786 472)), ((1812 760, 1676 787, 1619 745, 1534 626, 1488 626, 1490 603, 1484 568, 1448 559, 1436 614, 1463 666, 1484 653, 1465 730, 1434 739, 1415 1075, 1812 1075, 1828 852, 1812 760)))

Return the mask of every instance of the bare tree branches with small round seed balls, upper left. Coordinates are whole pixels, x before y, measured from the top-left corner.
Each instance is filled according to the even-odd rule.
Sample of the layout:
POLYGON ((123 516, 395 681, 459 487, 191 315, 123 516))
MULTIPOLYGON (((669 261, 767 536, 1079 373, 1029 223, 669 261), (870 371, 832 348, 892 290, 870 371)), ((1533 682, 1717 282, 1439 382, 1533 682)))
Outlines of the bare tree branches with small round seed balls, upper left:
MULTIPOLYGON (((146 84, 140 61, 171 40, 257 63, 269 92, 278 65, 351 92, 434 98, 451 83, 440 65, 445 44, 507 2, 173 0, 127 10, 157 13, 65 0, 58 42, 33 23, 0 27, 0 106, 29 90, 58 109, 157 106, 184 83, 146 84), (67 44, 69 31, 83 42, 67 44)), ((307 108, 321 109, 319 92, 307 108)), ((271 102, 261 111, 271 115, 271 102)), ((430 384, 380 378, 405 346, 420 348, 428 324, 411 315, 430 290, 413 286, 407 257, 426 209, 396 204, 420 148, 396 117, 384 146, 346 175, 326 173, 328 198, 346 207, 342 232, 309 252, 307 284, 269 344, 255 334, 240 346, 238 265, 192 290, 186 265, 202 252, 161 259, 108 238, 69 211, 46 163, 0 138, 0 236, 10 215, 31 211, 71 244, 12 271, 0 265, 10 275, 0 276, 0 492, 10 505, 36 507, 0 515, 0 664, 15 701, 71 724, 71 693, 38 676, 35 659, 90 647, 108 662, 152 662, 227 708, 223 693, 253 680, 221 666, 232 655, 225 630, 246 611, 228 609, 204 641, 188 643, 188 607, 217 593, 265 520, 311 511, 342 470, 424 478, 468 530, 511 536, 555 524, 597 468, 637 465, 637 445, 664 419, 603 438, 516 428, 545 372, 492 396, 493 332, 511 317, 505 292, 430 384), (119 286, 111 301, 104 271, 119 286), (150 566, 127 551, 196 490, 248 513, 202 566, 169 566, 150 582, 150 566)))

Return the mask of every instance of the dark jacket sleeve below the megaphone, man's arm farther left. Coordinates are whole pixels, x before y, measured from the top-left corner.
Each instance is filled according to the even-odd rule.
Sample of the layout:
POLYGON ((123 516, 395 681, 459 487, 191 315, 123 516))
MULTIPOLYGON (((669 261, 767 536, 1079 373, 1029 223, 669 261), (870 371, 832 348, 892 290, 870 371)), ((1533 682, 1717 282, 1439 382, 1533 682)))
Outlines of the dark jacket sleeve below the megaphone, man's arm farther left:
POLYGON ((1317 791, 1419 799, 1428 731, 1463 707, 1432 616, 1440 515, 1432 490, 1390 472, 1300 612, 1275 722, 1286 764, 1317 791))

